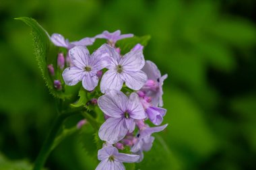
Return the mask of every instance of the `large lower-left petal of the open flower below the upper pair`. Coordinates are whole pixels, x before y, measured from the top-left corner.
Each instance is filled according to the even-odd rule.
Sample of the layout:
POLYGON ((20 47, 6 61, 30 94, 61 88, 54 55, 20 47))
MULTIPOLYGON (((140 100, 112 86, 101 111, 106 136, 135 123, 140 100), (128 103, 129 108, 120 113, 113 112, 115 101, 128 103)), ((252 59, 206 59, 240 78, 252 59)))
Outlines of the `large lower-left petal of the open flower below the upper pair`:
POLYGON ((109 144, 115 144, 122 140, 127 134, 128 130, 124 118, 108 118, 98 132, 101 140, 109 144))

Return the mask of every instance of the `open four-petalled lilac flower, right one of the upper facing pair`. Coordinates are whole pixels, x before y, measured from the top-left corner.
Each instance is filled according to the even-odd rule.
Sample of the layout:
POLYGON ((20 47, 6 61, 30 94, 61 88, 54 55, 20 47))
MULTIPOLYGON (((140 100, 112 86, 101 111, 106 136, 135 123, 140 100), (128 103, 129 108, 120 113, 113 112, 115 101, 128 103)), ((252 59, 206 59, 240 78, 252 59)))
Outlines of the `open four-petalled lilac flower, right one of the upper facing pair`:
POLYGON ((106 46, 110 54, 108 71, 103 75, 100 90, 105 93, 107 89, 121 90, 123 83, 127 87, 139 90, 147 81, 147 75, 141 71, 145 65, 141 50, 131 51, 120 56, 115 48, 106 46))

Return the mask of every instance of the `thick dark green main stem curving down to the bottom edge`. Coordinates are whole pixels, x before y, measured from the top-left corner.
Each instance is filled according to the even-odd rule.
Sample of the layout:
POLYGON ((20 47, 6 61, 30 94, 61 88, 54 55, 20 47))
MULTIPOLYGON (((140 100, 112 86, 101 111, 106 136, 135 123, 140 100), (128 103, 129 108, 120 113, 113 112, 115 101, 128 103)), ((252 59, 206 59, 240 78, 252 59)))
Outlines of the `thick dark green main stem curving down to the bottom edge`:
POLYGON ((61 124, 64 122, 64 120, 66 118, 68 118, 69 116, 79 113, 82 109, 83 108, 77 108, 75 110, 68 110, 67 112, 63 112, 62 114, 59 114, 59 116, 57 117, 57 119, 55 120, 55 122, 53 124, 53 127, 51 128, 51 132, 46 137, 46 140, 44 140, 44 144, 42 145, 40 153, 34 163, 33 170, 41 170, 42 167, 44 166, 46 159, 49 157, 49 155, 52 151, 51 148, 53 146, 55 137, 57 136, 59 129, 61 127, 61 124))

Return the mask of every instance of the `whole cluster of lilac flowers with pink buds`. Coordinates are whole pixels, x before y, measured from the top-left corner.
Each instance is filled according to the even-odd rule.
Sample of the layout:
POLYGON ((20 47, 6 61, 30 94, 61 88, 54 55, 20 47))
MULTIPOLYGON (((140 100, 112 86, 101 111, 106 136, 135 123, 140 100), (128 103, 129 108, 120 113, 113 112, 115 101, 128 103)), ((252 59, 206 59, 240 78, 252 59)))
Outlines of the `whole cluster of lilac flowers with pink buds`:
MULTIPOLYGON (((98 151, 101 161, 96 169, 125 169, 123 163, 140 162, 143 151, 150 151, 154 142, 152 134, 166 128, 162 124, 166 110, 162 108, 162 85, 167 75, 161 76, 154 62, 144 59, 143 46, 136 44, 127 54, 121 54, 116 42, 133 34, 104 31, 93 38, 69 42, 60 34, 53 34, 51 42, 67 49, 66 57, 59 53, 57 65, 61 69, 65 85, 76 85, 93 93, 101 94, 92 99, 104 113, 105 122, 98 130, 98 136, 105 141, 98 151), (86 46, 97 38, 104 38, 107 44, 90 54, 86 46), (66 66, 66 68, 65 68, 66 66), (99 85, 99 89, 96 88, 99 85), (125 84, 125 85, 124 85, 125 84), (155 127, 146 124, 150 120, 155 127), (130 153, 119 153, 129 148, 130 153)), ((54 76, 53 65, 48 66, 54 76)), ((61 82, 54 81, 56 89, 61 90, 61 82)), ((82 120, 77 125, 86 124, 82 120)))

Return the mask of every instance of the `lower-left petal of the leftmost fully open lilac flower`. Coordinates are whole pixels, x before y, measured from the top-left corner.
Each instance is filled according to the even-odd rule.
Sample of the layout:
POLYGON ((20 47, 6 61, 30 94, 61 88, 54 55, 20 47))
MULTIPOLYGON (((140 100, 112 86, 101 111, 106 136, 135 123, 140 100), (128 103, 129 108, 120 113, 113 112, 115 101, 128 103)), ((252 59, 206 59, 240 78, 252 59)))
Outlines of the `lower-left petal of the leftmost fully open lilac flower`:
POLYGON ((68 67, 63 71, 62 77, 66 85, 76 85, 79 81, 82 81, 84 71, 77 67, 68 67))

